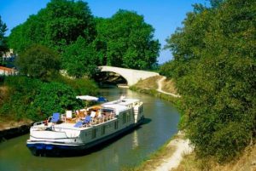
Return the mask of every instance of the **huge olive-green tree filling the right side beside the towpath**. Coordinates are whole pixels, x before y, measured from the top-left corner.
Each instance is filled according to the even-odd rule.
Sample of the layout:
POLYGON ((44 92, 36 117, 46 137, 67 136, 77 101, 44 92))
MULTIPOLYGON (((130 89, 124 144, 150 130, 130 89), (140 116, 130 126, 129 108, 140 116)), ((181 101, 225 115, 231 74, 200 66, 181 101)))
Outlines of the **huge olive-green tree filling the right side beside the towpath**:
POLYGON ((224 162, 256 134, 256 3, 195 5, 183 28, 167 39, 174 60, 162 73, 183 97, 183 128, 201 157, 224 162))

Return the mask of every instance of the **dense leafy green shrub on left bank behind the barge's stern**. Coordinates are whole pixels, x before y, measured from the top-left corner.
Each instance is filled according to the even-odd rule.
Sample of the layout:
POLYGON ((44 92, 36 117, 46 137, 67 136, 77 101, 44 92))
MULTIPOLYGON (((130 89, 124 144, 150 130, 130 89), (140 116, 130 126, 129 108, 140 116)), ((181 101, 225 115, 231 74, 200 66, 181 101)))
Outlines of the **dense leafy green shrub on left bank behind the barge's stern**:
POLYGON ((7 77, 5 85, 11 89, 9 99, 0 107, 2 116, 15 120, 45 119, 53 112, 64 112, 82 107, 75 99, 73 88, 64 83, 44 83, 30 77, 7 77))

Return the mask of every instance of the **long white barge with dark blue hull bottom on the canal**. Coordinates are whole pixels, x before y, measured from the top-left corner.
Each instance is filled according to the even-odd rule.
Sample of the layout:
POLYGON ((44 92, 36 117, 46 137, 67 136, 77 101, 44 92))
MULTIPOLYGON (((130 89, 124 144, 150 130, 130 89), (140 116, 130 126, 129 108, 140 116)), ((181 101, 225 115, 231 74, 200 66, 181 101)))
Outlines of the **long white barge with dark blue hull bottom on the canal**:
POLYGON ((136 128, 143 118, 143 102, 127 98, 62 115, 54 113, 33 124, 26 146, 35 156, 75 155, 136 128))

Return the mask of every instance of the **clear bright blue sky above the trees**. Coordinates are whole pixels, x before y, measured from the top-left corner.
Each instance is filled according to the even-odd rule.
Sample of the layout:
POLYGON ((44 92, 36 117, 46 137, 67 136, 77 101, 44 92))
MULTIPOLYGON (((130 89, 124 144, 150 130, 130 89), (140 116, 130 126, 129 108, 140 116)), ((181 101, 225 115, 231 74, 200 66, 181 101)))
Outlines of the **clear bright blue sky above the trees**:
MULTIPOLYGON (((5 36, 12 28, 26 21, 31 14, 46 7, 50 0, 0 0, 0 15, 8 26, 5 36)), ((193 10, 192 4, 206 4, 207 0, 86 0, 94 16, 109 18, 119 9, 136 11, 144 16, 146 23, 154 27, 154 38, 161 44, 159 64, 172 60, 172 53, 163 50, 166 38, 181 27, 186 14, 193 10)))

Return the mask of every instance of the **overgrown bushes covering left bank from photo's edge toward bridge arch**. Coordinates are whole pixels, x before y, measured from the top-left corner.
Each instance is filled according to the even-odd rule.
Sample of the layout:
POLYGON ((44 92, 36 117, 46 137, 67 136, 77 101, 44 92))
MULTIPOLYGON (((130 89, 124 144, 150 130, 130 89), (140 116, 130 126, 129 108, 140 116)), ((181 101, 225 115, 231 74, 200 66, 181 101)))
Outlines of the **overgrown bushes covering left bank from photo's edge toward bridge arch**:
POLYGON ((95 83, 87 81, 86 85, 84 87, 81 79, 69 80, 67 83, 67 80, 43 82, 24 76, 5 77, 2 87, 6 91, 0 105, 0 127, 9 129, 6 124, 9 122, 37 122, 51 116, 53 112, 80 109, 84 103, 76 100, 76 95, 97 93, 95 83))

